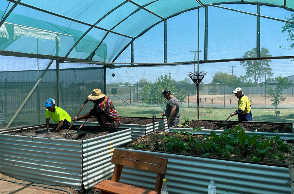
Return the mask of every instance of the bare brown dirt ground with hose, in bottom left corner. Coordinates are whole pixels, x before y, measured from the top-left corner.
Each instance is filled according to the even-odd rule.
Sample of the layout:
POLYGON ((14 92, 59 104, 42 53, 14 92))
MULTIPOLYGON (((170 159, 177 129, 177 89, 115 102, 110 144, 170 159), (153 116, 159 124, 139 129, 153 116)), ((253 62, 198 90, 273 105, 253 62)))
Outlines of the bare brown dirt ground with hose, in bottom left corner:
POLYGON ((92 189, 88 192, 83 192, 83 191, 77 191, 74 190, 73 188, 70 187, 62 187, 62 186, 52 186, 52 185, 44 185, 44 184, 39 184, 39 183, 32 183, 24 180, 19 180, 16 178, 12 178, 10 176, 4 175, 0 173, 0 193, 2 194, 65 194, 65 193, 71 193, 71 194, 98 194, 100 193, 99 190, 97 189, 92 189), (12 183, 9 181, 17 182, 17 183, 12 183), (34 185, 41 185, 44 187, 49 187, 49 188, 44 188, 44 187, 39 187, 39 186, 33 186, 33 185, 26 185, 26 184, 34 184, 34 185), (60 189, 60 190, 56 190, 60 189), (61 191, 65 190, 65 191, 61 191))

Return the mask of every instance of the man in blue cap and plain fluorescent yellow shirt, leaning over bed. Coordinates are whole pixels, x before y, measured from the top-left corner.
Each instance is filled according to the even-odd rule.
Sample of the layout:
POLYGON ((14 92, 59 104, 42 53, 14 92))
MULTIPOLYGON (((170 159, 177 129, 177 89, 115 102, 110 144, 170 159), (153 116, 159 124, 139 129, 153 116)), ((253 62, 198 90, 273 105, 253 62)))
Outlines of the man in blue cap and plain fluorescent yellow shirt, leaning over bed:
POLYGON ((46 103, 46 128, 47 133, 49 133, 49 120, 50 117, 55 123, 58 123, 54 133, 58 131, 64 124, 71 124, 71 117, 69 114, 63 110, 62 108, 55 105, 55 100, 53 98, 49 98, 46 103))

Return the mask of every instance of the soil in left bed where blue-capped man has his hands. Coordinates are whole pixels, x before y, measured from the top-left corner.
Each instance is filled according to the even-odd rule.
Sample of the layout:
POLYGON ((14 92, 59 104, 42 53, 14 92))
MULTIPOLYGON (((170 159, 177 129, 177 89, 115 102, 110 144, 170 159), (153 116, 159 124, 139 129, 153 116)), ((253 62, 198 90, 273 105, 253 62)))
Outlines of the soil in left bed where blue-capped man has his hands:
POLYGON ((79 131, 76 133, 74 130, 69 130, 66 136, 67 129, 61 129, 54 133, 54 129, 50 128, 50 134, 47 134, 46 128, 33 128, 30 130, 25 130, 23 132, 8 132, 5 134, 20 135, 20 136, 35 136, 35 137, 45 137, 45 138, 56 138, 56 139, 69 139, 69 140, 86 140, 98 136, 104 136, 112 131, 108 132, 94 132, 94 131, 79 131), (65 137, 66 136, 66 137, 65 137))

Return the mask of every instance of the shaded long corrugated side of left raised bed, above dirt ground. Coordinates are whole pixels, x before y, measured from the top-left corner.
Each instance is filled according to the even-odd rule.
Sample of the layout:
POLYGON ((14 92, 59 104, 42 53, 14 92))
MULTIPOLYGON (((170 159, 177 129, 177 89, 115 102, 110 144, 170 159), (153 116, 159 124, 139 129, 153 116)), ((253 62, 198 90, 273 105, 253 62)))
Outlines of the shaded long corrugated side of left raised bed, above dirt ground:
POLYGON ((1 172, 47 185, 82 184, 82 141, 0 134, 1 172))

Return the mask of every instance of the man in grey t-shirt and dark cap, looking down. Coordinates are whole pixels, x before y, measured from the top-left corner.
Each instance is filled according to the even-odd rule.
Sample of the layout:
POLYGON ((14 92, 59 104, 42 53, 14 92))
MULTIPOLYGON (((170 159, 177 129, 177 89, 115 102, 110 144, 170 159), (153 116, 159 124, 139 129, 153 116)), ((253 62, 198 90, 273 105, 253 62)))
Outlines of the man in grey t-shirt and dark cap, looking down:
POLYGON ((178 125, 180 122, 180 104, 176 97, 171 94, 171 91, 165 89, 162 91, 161 98, 164 97, 168 100, 166 104, 165 113, 161 113, 161 116, 166 116, 168 127, 178 125))

